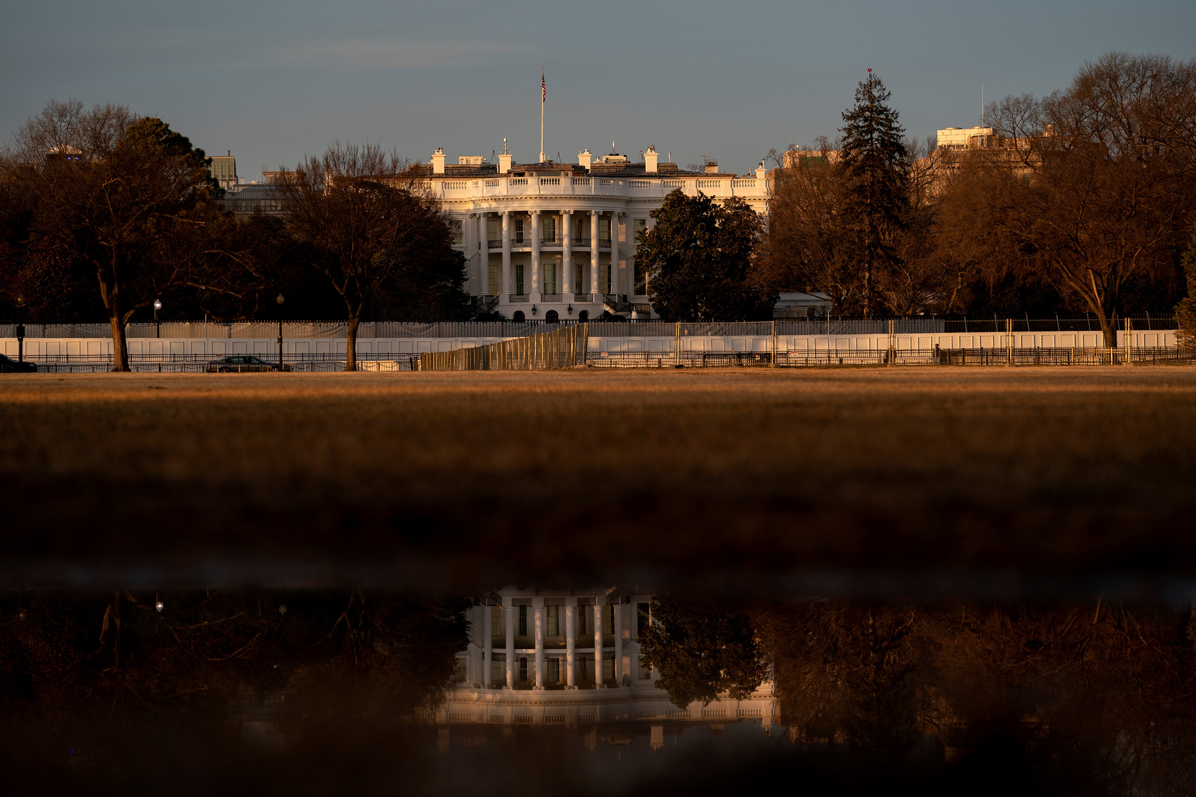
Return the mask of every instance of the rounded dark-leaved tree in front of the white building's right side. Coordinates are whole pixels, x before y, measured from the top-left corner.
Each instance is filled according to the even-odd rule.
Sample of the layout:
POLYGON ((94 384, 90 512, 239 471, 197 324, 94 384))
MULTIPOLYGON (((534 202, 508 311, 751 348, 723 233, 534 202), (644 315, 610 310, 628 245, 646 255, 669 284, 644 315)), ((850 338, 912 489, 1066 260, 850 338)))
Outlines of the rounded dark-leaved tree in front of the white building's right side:
POLYGON ((763 223, 743 200, 665 197, 652 211, 639 268, 648 275, 652 307, 666 321, 751 321, 771 318, 776 295, 762 287, 755 252, 763 223))

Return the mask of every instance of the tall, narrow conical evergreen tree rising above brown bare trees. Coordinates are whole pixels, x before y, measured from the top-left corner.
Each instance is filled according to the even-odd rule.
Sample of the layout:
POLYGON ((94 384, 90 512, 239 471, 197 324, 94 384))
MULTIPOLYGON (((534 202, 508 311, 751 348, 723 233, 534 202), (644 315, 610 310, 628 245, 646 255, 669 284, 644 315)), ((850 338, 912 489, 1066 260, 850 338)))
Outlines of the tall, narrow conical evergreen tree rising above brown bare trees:
POLYGON ((890 92, 874 73, 855 90, 855 108, 843 111, 842 167, 847 178, 844 213, 854 220, 864 269, 864 314, 874 312, 878 272, 897 260, 893 234, 908 204, 904 130, 886 104, 890 92))

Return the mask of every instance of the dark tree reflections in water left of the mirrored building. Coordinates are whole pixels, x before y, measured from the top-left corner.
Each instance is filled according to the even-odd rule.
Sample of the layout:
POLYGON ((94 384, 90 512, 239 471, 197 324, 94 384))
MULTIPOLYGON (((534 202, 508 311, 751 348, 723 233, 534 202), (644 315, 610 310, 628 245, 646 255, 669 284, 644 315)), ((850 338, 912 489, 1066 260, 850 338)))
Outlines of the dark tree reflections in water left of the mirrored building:
POLYGON ((8 730, 224 721, 244 692, 300 698, 311 719, 402 717, 434 703, 465 644, 458 601, 413 595, 210 591, 10 596, 0 606, 8 730), (286 612, 280 612, 281 606, 286 612))

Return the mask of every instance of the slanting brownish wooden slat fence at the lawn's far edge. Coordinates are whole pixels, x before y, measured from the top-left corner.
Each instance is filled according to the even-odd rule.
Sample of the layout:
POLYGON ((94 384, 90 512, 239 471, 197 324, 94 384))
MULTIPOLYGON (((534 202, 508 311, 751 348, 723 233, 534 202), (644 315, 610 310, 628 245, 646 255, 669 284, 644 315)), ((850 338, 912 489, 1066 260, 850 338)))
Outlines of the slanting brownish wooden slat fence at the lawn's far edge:
POLYGON ((580 366, 586 362, 588 330, 588 324, 576 324, 472 349, 425 351, 420 355, 420 370, 537 370, 580 366))

